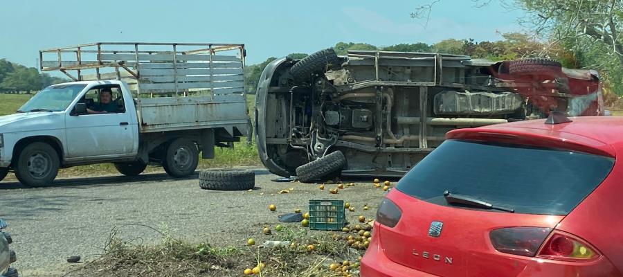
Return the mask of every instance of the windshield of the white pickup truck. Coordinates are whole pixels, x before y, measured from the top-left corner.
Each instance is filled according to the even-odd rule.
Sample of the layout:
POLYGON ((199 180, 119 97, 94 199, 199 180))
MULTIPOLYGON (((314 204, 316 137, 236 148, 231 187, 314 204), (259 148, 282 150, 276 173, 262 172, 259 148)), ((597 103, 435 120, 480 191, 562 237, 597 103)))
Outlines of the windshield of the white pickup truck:
POLYGON ((30 98, 18 111, 63 111, 86 86, 87 84, 63 84, 46 87, 30 98))

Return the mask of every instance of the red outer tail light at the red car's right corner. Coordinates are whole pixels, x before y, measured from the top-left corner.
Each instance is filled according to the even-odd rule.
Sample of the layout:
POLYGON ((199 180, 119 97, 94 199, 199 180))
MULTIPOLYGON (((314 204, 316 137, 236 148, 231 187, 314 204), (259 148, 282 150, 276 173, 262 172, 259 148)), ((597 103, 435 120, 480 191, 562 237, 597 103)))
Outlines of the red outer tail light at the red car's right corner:
POLYGON ((539 258, 577 262, 595 260, 599 256, 588 242, 561 231, 554 231, 537 255, 539 258))

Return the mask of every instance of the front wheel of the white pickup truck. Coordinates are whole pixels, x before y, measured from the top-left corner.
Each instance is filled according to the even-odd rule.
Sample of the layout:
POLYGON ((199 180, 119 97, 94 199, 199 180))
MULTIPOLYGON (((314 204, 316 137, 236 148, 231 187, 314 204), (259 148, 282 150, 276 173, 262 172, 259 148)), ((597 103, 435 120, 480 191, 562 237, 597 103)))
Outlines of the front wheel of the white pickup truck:
POLYGON ((36 142, 26 145, 19 152, 15 168, 15 177, 26 186, 51 185, 60 161, 56 150, 48 143, 36 142))

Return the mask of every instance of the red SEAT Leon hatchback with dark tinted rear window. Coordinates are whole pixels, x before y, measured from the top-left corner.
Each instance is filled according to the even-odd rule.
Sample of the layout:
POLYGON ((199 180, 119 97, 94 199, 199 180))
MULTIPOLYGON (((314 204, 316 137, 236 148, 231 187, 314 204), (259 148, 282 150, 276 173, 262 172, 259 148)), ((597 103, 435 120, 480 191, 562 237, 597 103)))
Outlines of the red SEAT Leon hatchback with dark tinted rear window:
POLYGON ((361 276, 623 276, 623 118, 446 139, 383 199, 361 276))

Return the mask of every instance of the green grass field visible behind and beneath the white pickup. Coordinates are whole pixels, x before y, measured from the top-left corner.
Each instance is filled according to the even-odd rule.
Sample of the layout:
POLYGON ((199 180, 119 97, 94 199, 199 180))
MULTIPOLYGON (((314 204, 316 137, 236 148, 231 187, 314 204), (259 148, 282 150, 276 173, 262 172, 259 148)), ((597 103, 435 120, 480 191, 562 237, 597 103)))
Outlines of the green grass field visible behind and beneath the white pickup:
MULTIPOLYGON (((27 94, 0 94, 0 116, 13 114, 32 95, 27 94)), ((255 95, 248 95, 246 104, 249 107, 249 116, 253 116, 255 95)), ((260 166, 258 148, 254 143, 247 145, 246 138, 241 138, 240 143, 235 143, 234 148, 216 148, 214 159, 200 159, 199 169, 224 168, 229 166, 260 166)), ((149 167, 145 172, 161 172, 161 167, 149 167)), ((67 168, 59 172, 60 177, 72 177, 79 175, 108 175, 117 174, 117 170, 110 163, 78 166, 67 168)), ((10 176, 12 177, 12 176, 10 176)), ((9 177, 9 178, 10 178, 9 177)))

